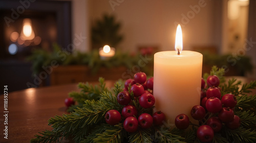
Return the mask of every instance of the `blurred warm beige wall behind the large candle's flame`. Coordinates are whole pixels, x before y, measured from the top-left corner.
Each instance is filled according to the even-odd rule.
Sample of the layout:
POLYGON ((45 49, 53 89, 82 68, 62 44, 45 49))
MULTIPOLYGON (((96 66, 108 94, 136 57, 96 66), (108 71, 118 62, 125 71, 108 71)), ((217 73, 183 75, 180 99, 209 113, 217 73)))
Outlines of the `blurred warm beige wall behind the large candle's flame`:
MULTIPOLYGON (((182 24, 184 50, 191 50, 193 46, 219 48, 221 45, 221 2, 87 0, 81 3, 83 7, 86 5, 84 8, 90 7, 87 13, 84 8, 78 12, 77 9, 82 6, 79 7, 76 0, 73 2, 74 6, 78 6, 74 10, 75 16, 80 12, 89 14, 86 19, 89 19, 91 24, 100 19, 103 13, 114 14, 122 23, 120 33, 124 35, 124 40, 117 48, 123 51, 137 51, 139 45, 158 45, 160 50, 174 50, 177 23, 182 24)), ((80 21, 84 20, 79 19, 80 21)), ((89 24, 78 26, 85 26, 86 31, 90 31, 89 24)), ((84 34, 90 37, 89 33, 84 34)), ((85 45, 78 47, 78 50, 89 50, 89 44, 85 45)))

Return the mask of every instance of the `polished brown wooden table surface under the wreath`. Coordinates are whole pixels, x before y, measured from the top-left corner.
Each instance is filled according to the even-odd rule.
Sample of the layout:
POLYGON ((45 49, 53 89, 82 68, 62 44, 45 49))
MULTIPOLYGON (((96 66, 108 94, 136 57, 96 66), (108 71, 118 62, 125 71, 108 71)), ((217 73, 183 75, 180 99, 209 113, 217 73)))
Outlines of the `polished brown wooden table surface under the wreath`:
MULTIPOLYGON (((235 78, 243 83, 251 80, 244 77, 235 78)), ((98 82, 92 82, 96 83, 98 82)), ((106 87, 114 86, 114 81, 105 83, 106 87)), ((2 90, 4 91, 4 87, 2 90)), ((55 115, 67 113, 64 100, 71 91, 79 91, 77 83, 8 93, 8 139, 4 138, 4 96, 0 95, 0 142, 30 142, 38 132, 51 130, 48 120, 55 115)), ((256 90, 253 90, 253 94, 256 94, 256 90)))

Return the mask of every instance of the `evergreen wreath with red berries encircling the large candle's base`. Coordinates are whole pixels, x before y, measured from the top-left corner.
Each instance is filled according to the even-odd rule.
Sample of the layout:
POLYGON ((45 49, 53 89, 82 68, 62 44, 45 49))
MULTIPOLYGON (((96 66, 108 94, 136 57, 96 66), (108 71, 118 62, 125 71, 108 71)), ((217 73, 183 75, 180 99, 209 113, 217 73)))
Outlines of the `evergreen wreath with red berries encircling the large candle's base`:
POLYGON ((256 81, 225 81, 224 72, 214 66, 204 74, 201 105, 191 107, 198 124, 179 115, 176 127, 169 128, 164 113, 153 112, 153 78, 144 84, 150 89, 140 93, 143 85, 134 80, 144 83, 146 77, 138 73, 112 89, 105 87, 103 78, 95 86, 79 83, 81 91, 69 93, 78 103, 69 108, 72 112, 49 119, 53 129, 40 132, 31 142, 256 142, 256 95, 247 95, 256 81))

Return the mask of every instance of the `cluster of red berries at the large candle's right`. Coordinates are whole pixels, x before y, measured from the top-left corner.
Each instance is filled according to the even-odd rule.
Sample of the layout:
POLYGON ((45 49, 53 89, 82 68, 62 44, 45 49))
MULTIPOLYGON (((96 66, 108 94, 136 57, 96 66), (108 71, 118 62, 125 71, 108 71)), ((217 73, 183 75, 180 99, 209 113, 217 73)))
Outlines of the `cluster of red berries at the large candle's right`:
MULTIPOLYGON (((211 141, 214 132, 219 132, 223 125, 229 129, 237 129, 241 124, 240 118, 234 115, 233 111, 234 106, 237 105, 236 96, 232 94, 221 96, 221 89, 218 87, 220 79, 216 75, 208 76, 206 82, 208 89, 202 78, 201 105, 193 106, 190 112, 191 117, 200 121, 197 137, 202 142, 211 141)), ((178 115, 175 125, 179 129, 186 129, 189 126, 187 115, 178 115)))

